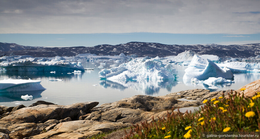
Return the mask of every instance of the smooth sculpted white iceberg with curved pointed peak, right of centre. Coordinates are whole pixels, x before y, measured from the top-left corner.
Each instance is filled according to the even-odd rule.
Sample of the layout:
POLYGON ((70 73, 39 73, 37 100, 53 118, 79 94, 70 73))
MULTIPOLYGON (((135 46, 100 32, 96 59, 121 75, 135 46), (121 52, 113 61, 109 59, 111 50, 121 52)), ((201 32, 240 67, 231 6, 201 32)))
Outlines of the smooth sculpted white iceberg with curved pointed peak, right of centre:
MULTIPOLYGON (((194 56, 194 58, 197 59, 198 57, 194 56)), ((194 63, 192 63, 192 62, 191 62, 191 64, 194 65, 194 63)), ((183 76, 183 80, 190 80, 192 78, 208 79, 209 77, 216 77, 216 78, 218 78, 218 77, 233 78, 234 77, 234 75, 230 69, 228 69, 226 67, 221 69, 220 67, 218 67, 214 62, 212 62, 209 59, 207 59, 207 65, 206 65, 205 69, 197 68, 197 67, 201 67, 200 64, 201 63, 199 63, 199 64, 195 63, 195 66, 189 65, 189 67, 187 69, 185 69, 185 74, 183 76)))

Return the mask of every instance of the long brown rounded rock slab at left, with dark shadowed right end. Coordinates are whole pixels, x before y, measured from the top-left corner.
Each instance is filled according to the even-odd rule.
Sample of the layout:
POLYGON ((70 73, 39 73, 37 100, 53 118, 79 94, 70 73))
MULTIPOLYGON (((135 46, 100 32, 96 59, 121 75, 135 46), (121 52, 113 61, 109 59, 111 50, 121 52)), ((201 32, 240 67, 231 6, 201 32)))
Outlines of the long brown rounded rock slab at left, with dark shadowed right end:
POLYGON ((80 110, 87 113, 96 105, 98 105, 98 102, 82 102, 65 106, 37 105, 26 107, 13 111, 10 115, 0 119, 0 124, 37 123, 39 121, 45 122, 50 119, 65 119, 67 117, 76 120, 80 110))

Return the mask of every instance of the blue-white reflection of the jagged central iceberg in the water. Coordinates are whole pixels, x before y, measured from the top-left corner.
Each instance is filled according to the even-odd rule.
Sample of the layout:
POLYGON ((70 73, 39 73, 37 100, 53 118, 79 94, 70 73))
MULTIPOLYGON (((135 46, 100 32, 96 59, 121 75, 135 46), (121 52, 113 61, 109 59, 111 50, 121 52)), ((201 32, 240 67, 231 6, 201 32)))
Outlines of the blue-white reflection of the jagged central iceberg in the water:
POLYGON ((158 94, 160 89, 166 89, 171 91, 173 86, 176 86, 177 81, 174 79, 168 80, 100 80, 99 84, 104 88, 118 89, 123 91, 127 88, 137 90, 138 92, 144 93, 146 95, 158 94))

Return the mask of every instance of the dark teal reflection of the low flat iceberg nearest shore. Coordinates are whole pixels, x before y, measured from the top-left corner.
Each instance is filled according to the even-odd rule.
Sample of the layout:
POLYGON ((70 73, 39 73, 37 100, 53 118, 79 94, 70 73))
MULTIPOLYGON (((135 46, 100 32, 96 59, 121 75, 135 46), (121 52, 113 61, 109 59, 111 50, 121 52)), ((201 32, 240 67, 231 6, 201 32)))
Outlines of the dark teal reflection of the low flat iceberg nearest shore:
MULTIPOLYGON (((1 92, 0 93, 0 102, 13 102, 13 101, 26 101, 21 98, 21 96, 33 96, 33 99, 40 98, 41 93, 45 90, 38 91, 22 91, 22 92, 1 92)), ((32 99, 32 100, 33 100, 32 99)))

